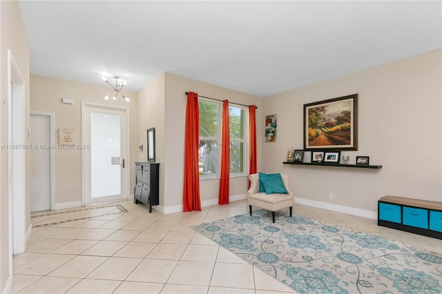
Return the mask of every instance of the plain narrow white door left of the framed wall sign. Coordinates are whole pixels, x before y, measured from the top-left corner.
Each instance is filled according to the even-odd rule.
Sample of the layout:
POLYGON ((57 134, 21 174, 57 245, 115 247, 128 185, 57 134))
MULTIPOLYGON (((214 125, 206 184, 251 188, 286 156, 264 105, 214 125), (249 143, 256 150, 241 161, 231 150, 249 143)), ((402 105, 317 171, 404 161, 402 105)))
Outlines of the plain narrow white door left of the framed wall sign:
POLYGON ((50 116, 30 115, 30 211, 50 210, 50 116))

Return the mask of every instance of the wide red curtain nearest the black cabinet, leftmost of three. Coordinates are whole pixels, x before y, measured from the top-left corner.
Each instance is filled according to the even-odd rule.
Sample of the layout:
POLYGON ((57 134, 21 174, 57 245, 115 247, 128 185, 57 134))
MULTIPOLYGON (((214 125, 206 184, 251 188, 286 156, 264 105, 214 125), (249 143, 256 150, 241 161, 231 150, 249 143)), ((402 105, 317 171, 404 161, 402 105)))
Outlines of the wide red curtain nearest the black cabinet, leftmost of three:
POLYGON ((198 148, 200 144, 200 110, 198 93, 189 92, 186 107, 186 133, 184 139, 184 193, 183 211, 201 211, 198 148))

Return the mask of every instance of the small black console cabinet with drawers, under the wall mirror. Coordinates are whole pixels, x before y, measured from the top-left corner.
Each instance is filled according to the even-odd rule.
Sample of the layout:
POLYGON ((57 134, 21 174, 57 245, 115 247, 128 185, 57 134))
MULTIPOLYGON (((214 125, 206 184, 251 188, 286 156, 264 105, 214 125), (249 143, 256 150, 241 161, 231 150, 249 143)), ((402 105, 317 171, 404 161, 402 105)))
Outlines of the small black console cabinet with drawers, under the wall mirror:
POLYGON ((133 203, 148 204, 152 213, 152 206, 160 204, 160 164, 135 162, 135 179, 133 203))

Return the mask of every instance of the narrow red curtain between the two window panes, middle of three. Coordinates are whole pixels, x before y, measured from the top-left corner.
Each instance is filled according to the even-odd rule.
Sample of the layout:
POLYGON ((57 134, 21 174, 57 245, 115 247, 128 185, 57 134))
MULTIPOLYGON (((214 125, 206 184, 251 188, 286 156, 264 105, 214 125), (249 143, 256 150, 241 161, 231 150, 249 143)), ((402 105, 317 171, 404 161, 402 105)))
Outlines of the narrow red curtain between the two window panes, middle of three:
POLYGON ((230 131, 229 100, 222 104, 221 181, 218 204, 229 204, 230 131))

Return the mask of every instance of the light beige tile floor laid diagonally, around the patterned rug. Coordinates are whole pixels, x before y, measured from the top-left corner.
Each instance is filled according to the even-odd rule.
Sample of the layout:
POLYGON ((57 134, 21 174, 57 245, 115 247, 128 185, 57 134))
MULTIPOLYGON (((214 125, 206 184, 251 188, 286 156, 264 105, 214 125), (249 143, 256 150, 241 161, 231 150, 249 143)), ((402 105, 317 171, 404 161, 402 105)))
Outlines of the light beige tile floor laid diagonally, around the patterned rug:
MULTIPOLYGON (((191 228, 243 213, 246 200, 170 215, 132 201, 32 213, 13 293, 294 293, 191 228)), ((442 253, 442 240, 373 219, 299 204, 294 213, 442 253)))

